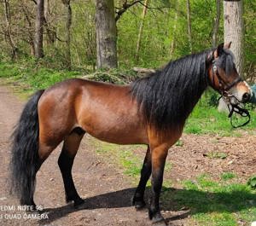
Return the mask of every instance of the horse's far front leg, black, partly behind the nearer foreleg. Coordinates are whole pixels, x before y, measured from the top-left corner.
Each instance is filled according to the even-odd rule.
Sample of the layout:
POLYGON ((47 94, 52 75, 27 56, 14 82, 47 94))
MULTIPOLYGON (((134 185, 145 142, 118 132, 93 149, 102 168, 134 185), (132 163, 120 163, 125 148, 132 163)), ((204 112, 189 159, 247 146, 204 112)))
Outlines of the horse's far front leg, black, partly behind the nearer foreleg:
POLYGON ((137 208, 141 209, 143 206, 145 206, 145 201, 144 201, 144 192, 146 188, 146 184, 148 182, 148 179, 151 175, 151 152, 150 148, 148 146, 147 154, 145 156, 144 162, 143 162, 143 168, 141 171, 141 179, 140 182, 137 186, 136 192, 134 194, 132 204, 137 208))

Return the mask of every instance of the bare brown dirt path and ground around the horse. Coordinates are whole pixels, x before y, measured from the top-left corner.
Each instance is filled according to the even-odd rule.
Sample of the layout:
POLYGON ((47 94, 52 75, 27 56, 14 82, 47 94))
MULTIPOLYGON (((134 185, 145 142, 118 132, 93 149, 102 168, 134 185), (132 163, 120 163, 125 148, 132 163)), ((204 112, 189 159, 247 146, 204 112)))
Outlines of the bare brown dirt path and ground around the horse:
MULTIPOLYGON (((8 194, 9 136, 20 116, 22 106, 22 101, 11 91, 0 86, 0 226, 151 225, 146 210, 136 212, 131 206, 131 197, 135 191, 131 178, 124 176, 121 170, 96 155, 94 147, 86 144, 88 139, 93 139, 90 136, 84 138, 73 166, 74 182, 85 201, 83 208, 75 210, 72 205, 65 203, 61 173, 57 165, 59 147, 46 160, 37 177, 35 202, 44 206, 44 216, 48 219, 43 217, 38 220, 40 217, 37 216, 37 219, 29 219, 34 215, 24 215, 26 212, 17 210, 17 200, 8 194)), ((245 183, 247 177, 256 173, 255 147, 255 136, 246 134, 242 137, 184 135, 180 145, 169 151, 167 162, 172 165, 172 170, 166 171, 165 178, 170 179, 173 186, 178 188, 181 180, 193 179, 202 173, 209 173, 218 179, 223 171, 233 171, 238 176, 237 180, 245 183), (224 153, 226 157, 212 158, 211 154, 216 153, 224 153)), ((143 159, 140 148, 134 154, 143 159)), ((170 211, 170 208, 163 207, 166 210, 164 216, 169 217, 169 225, 191 225, 186 211, 170 211)))

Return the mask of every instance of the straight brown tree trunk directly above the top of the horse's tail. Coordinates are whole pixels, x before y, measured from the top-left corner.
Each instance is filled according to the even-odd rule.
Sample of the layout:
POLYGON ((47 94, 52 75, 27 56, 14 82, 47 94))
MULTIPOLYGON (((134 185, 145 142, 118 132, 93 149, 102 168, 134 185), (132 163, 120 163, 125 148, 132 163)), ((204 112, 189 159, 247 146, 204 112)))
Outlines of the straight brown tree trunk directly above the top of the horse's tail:
POLYGON ((44 57, 43 33, 44 33, 44 0, 38 0, 37 15, 36 15, 36 32, 35 32, 35 39, 34 39, 36 58, 44 57))

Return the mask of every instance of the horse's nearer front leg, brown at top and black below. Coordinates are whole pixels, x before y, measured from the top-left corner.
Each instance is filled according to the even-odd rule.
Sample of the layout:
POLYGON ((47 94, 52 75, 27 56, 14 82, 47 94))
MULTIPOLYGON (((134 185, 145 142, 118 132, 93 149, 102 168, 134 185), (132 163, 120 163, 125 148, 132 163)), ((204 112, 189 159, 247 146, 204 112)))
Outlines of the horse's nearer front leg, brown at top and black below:
POLYGON ((160 191, 163 183, 163 174, 166 164, 166 156, 168 154, 169 146, 164 144, 152 148, 151 161, 152 161, 152 196, 148 210, 148 216, 157 225, 166 225, 165 218, 160 213, 159 199, 160 191))

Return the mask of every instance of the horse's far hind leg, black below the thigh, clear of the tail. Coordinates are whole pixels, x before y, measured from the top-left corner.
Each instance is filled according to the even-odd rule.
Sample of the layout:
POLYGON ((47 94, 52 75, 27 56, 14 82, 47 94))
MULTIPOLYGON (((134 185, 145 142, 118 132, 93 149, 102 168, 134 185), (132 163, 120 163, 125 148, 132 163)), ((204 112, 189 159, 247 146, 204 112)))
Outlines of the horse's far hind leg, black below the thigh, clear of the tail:
POLYGON ((78 152, 79 144, 83 136, 84 130, 79 128, 74 129, 72 133, 65 138, 61 155, 58 159, 58 165, 61 169, 61 175, 66 193, 66 200, 67 202, 73 201, 75 207, 84 203, 84 200, 79 197, 72 177, 73 160, 78 152))

